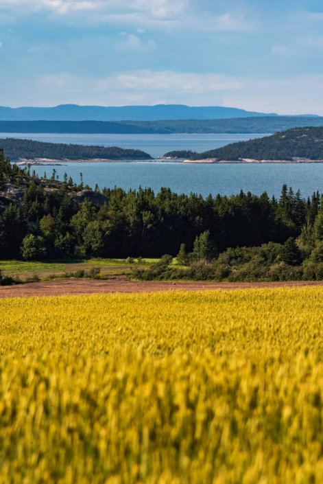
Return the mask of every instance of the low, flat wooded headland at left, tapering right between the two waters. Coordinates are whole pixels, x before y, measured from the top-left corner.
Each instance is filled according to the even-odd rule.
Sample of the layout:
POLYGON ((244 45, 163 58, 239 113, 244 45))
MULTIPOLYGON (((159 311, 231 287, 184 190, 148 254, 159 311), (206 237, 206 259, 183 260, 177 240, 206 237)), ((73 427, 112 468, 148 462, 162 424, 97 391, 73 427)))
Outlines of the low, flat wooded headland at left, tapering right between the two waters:
POLYGON ((12 160, 47 158, 56 160, 149 160, 152 157, 141 150, 125 150, 117 146, 82 146, 62 143, 43 143, 29 139, 0 139, 0 148, 12 160))

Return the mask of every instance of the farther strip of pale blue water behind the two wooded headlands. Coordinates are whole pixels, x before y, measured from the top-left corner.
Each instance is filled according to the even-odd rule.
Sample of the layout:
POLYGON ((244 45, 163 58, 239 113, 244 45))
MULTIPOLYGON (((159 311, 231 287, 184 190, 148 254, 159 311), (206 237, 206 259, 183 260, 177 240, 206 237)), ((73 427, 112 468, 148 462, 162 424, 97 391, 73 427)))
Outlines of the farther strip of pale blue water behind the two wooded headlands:
POLYGON ((160 157, 173 150, 207 151, 236 141, 247 141, 265 135, 53 135, 34 133, 1 133, 0 138, 34 139, 49 143, 119 146, 134 148, 160 157))

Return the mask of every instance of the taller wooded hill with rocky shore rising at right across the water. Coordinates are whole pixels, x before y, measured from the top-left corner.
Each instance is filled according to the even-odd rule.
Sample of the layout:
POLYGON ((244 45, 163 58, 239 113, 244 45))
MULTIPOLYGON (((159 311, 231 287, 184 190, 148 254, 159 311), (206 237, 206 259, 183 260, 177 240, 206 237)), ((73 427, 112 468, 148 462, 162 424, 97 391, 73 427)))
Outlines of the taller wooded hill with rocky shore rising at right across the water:
POLYGON ((292 160, 296 157, 323 160, 323 127, 294 128, 259 139, 232 143, 216 150, 195 153, 190 159, 292 160))

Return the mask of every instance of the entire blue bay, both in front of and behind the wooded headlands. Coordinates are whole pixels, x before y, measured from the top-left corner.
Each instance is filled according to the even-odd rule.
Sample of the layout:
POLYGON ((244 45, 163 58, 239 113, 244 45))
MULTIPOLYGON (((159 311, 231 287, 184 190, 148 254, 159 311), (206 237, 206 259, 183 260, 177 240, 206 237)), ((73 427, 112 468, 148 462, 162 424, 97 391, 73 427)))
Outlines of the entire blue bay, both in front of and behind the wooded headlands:
MULTIPOLYGON (((2 134, 1 137, 21 137, 56 143, 82 143, 121 148, 139 148, 156 157, 176 149, 195 151, 210 150, 235 141, 243 141, 262 135, 52 135, 52 134, 2 134)), ((315 190, 323 192, 323 163, 312 164, 266 164, 266 165, 183 165, 181 163, 67 163, 57 166, 56 172, 62 180, 64 172, 80 183, 80 172, 84 183, 95 187, 122 187, 125 190, 152 187, 170 187, 173 192, 202 194, 237 194, 244 192, 270 196, 280 194, 283 183, 300 188, 303 196, 315 190)), ((43 176, 51 175, 52 167, 35 167, 43 176)))

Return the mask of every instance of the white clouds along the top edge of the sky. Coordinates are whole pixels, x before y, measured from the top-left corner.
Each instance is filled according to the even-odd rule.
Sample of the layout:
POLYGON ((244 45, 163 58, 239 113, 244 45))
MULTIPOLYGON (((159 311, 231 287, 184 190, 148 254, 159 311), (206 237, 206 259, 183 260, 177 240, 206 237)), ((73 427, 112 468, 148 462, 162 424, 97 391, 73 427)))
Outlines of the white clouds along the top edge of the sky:
MULTIPOLYGON (((0 8, 14 16, 28 12, 53 12, 82 16, 82 23, 134 25, 137 33, 147 28, 187 28, 198 31, 243 32, 254 28, 254 21, 229 12, 215 15, 193 8, 193 0, 0 0, 0 8)), ((73 15, 73 16, 72 16, 73 15)))

